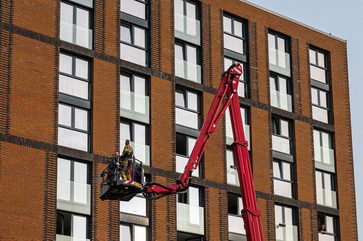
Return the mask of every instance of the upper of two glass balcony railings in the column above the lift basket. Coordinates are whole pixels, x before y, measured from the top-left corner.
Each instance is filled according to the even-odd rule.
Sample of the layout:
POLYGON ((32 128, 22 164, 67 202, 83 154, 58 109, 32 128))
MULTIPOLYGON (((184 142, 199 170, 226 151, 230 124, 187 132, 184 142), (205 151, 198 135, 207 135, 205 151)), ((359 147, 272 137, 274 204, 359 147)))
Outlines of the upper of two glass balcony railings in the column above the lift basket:
POLYGON ((121 89, 121 117, 149 124, 149 96, 121 89))

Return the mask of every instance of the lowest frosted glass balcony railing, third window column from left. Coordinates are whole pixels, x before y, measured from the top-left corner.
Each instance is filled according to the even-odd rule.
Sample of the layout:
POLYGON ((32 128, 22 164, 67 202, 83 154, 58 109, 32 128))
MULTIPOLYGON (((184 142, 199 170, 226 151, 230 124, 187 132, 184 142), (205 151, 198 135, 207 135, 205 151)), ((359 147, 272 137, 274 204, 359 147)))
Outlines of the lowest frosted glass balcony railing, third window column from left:
POLYGON ((204 209, 177 203, 177 229, 181 232, 204 235, 204 209))

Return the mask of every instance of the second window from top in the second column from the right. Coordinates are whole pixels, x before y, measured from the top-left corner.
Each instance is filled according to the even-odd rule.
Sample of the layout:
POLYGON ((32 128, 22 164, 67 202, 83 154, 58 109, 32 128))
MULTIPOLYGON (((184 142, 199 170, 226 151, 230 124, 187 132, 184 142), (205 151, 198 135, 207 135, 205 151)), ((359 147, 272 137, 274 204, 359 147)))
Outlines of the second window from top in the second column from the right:
POLYGON ((291 89, 290 79, 270 74, 271 106, 292 112, 291 89))

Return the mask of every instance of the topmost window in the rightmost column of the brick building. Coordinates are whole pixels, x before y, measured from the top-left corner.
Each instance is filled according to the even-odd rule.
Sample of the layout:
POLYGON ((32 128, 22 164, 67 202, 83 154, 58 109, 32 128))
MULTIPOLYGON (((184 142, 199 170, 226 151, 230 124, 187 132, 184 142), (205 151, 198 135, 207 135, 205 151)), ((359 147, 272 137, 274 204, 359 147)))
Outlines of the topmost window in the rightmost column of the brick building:
POLYGON ((323 83, 328 83, 327 54, 322 51, 310 48, 310 78, 323 83))

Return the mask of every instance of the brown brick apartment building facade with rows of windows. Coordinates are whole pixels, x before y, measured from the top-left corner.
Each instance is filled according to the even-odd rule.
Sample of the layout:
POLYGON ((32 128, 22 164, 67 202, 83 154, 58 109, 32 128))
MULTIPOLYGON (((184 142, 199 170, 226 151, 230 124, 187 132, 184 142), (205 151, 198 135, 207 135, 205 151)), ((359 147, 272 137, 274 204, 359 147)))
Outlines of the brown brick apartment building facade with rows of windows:
POLYGON ((228 117, 186 194, 98 198, 124 139, 175 183, 233 62, 265 240, 358 240, 346 41, 244 0, 1 0, 0 240, 245 240, 228 117))

